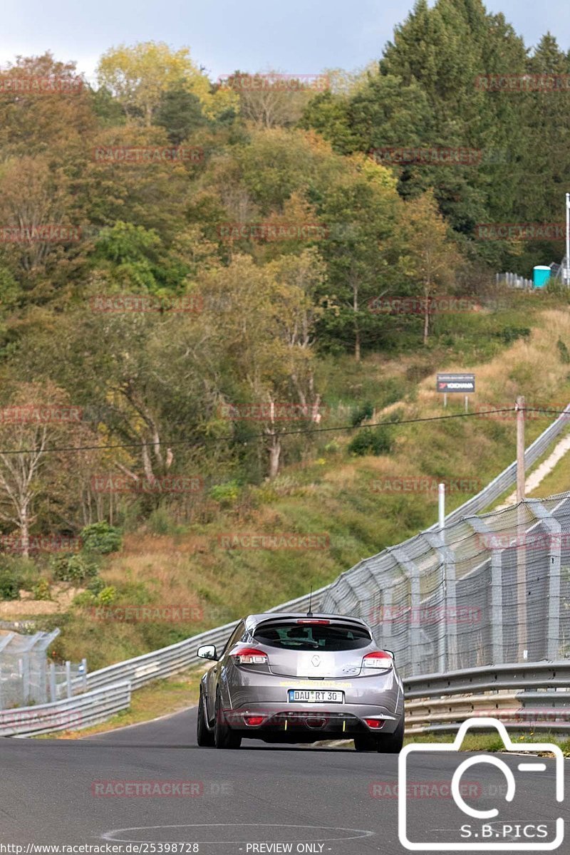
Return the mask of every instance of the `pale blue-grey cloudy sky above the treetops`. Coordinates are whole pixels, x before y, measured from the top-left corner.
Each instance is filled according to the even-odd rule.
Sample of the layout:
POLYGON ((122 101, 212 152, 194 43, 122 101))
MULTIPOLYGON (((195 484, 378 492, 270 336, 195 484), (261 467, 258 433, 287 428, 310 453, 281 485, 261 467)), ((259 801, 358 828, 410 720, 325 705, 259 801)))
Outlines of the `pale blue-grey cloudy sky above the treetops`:
MULTIPOLYGON (((408 0, 26 0, 6 3, 0 25, 0 64, 50 49, 75 60, 91 76, 111 45, 165 41, 191 48, 192 58, 216 78, 239 68, 316 74, 353 70, 379 57, 408 0)), ((488 0, 527 45, 549 30, 570 47, 568 0, 488 0)))

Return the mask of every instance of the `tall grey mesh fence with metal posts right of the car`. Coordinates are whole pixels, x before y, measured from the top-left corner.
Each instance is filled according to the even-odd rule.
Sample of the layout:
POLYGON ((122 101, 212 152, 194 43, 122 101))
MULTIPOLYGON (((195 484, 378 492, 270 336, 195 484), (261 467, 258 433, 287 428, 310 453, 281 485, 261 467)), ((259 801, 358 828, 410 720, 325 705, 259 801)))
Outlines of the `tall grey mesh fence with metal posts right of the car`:
POLYGON ((570 495, 417 534, 339 576, 320 610, 365 620, 405 677, 570 657, 570 495))

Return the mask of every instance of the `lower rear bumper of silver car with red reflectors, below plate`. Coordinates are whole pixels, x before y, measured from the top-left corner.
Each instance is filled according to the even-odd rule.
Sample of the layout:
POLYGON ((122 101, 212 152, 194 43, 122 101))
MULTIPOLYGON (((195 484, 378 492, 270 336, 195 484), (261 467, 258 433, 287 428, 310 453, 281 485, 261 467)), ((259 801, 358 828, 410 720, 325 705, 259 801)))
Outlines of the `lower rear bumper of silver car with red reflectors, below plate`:
POLYGON ((392 734, 403 711, 394 713, 381 706, 354 704, 248 704, 224 710, 224 717, 232 730, 250 739, 263 739, 267 734, 315 734, 314 740, 322 739, 320 734, 332 734, 350 739, 358 734, 392 734), (365 719, 378 721, 379 727, 369 726, 365 719))

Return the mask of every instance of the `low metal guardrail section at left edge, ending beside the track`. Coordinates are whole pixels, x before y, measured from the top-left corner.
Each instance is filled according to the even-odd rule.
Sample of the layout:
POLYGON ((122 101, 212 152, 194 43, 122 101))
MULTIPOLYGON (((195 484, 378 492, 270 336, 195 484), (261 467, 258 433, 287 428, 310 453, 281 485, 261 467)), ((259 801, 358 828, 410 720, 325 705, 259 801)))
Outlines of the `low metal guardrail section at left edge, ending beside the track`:
POLYGON ((123 681, 51 704, 0 711, 0 736, 39 736, 82 730, 131 705, 131 683, 123 681))

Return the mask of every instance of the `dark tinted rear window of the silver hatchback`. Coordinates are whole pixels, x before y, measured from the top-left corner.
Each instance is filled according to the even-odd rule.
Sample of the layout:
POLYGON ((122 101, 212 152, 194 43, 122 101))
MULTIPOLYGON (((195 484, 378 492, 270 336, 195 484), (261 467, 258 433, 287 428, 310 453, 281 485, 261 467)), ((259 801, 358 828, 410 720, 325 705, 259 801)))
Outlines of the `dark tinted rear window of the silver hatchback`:
POLYGON ((367 629, 335 624, 263 623, 254 638, 262 645, 282 650, 358 650, 370 644, 367 629))

